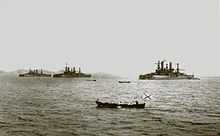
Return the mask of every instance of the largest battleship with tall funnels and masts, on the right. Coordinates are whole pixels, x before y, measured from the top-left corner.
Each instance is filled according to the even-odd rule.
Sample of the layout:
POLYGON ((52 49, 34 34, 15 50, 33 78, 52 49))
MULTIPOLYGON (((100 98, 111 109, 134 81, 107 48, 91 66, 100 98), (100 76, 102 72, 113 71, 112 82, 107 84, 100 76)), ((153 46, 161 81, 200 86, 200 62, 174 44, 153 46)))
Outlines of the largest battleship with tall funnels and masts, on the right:
POLYGON ((172 62, 165 64, 165 60, 158 61, 157 69, 155 72, 143 74, 139 76, 140 80, 178 80, 178 79, 188 79, 188 80, 199 80, 199 78, 194 77, 194 75, 188 75, 186 73, 180 72, 179 63, 176 64, 176 69, 172 67, 172 62), (169 66, 168 66, 169 65, 169 66))

